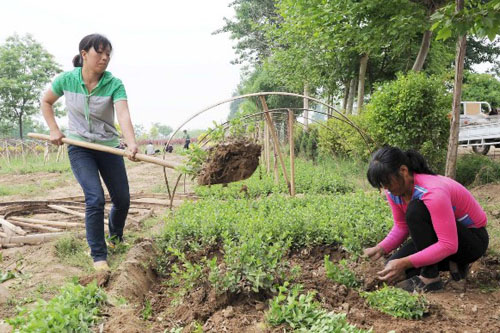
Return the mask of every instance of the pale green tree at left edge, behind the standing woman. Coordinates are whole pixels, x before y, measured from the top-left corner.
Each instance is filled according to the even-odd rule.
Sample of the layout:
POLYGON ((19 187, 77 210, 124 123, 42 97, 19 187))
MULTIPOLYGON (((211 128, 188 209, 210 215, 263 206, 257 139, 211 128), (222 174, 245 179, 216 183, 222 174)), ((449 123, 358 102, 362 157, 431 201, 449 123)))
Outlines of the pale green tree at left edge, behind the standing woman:
POLYGON ((0 116, 18 124, 39 110, 45 86, 61 72, 60 65, 31 35, 13 35, 0 46, 0 116))

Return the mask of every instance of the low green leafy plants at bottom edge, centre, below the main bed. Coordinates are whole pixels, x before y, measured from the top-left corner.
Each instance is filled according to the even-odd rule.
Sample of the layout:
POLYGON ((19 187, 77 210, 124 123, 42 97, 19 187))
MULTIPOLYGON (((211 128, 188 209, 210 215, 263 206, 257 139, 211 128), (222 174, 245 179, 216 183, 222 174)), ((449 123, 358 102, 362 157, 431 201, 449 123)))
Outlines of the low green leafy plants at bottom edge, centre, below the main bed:
POLYGON ((314 300, 315 293, 303 294, 302 286, 288 289, 288 283, 279 287, 279 292, 269 302, 266 320, 272 326, 286 324, 294 332, 371 332, 357 328, 347 322, 345 314, 328 313, 314 300))

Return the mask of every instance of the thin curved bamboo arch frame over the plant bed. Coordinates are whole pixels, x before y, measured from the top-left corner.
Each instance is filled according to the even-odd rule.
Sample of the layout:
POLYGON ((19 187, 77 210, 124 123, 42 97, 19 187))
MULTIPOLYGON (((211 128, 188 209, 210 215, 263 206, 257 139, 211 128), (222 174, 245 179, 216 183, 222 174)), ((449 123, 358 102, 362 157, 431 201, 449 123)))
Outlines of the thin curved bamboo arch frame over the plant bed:
MULTIPOLYGON (((341 120, 347 124, 349 124, 350 126, 352 126, 354 129, 356 129, 356 131, 361 135, 361 137, 363 138, 363 140, 365 141, 366 145, 368 146, 368 142, 367 142, 367 139, 370 139, 370 141, 373 141, 366 133, 364 133, 356 124, 354 124, 347 116, 345 116, 344 114, 342 114, 341 112, 339 112, 335 107, 333 107, 332 105, 329 105, 317 98, 314 98, 314 97, 310 97, 310 96, 305 96, 305 95, 301 95, 301 94, 295 94, 295 93, 287 93, 287 92, 260 92, 260 93, 252 93, 252 94, 245 94, 245 95, 240 95, 240 96, 235 96, 235 97, 232 97, 232 98, 229 98, 229 99, 226 99, 226 100, 223 100, 223 101, 220 101, 220 102, 217 102, 215 104, 212 104, 211 106, 208 106, 204 109, 202 109, 201 111, 195 113, 193 116, 191 116, 190 118, 188 118, 186 121, 184 121, 173 133, 172 135, 170 136, 169 140, 167 141, 166 143, 166 146, 168 147, 170 145, 170 142, 172 140, 172 138, 175 136, 175 134, 177 134, 179 132, 179 130, 184 127, 187 123, 189 123, 191 120, 193 120, 194 118, 198 117, 199 115, 219 106, 219 105, 222 105, 222 104, 225 104, 225 103, 229 103, 229 102, 232 102, 232 101, 235 101, 235 100, 239 100, 239 99, 244 99, 244 98, 250 98, 250 97, 259 97, 260 98, 260 101, 261 101, 261 104, 262 104, 262 107, 265 111, 263 112, 260 112, 258 114, 262 114, 262 115, 269 115, 269 113, 271 113, 271 110, 268 110, 267 109, 267 105, 265 105, 265 96, 269 96, 269 95, 274 95, 274 96, 291 96, 291 97, 298 97, 298 98, 302 98, 302 99, 307 99, 309 101, 313 101, 313 102, 316 102, 318 104, 321 104, 323 106, 326 106, 328 109, 331 109, 332 111, 334 111, 335 113, 337 113, 340 117, 336 117, 336 116, 333 116, 333 115, 329 115, 329 114, 326 114, 324 112, 321 112, 321 111, 317 111, 317 110, 311 110, 311 109, 303 109, 303 108, 283 108, 283 110, 307 110, 307 111, 313 111, 313 112, 317 112, 317 113, 321 113, 321 114, 326 114, 327 116, 330 116, 330 117, 334 117, 335 119, 338 119, 338 120, 341 120)), ((277 111, 277 109, 273 109, 274 111, 277 111)), ((311 120, 310 118, 307 118, 308 120, 311 120)), ((230 127, 230 126, 229 126, 230 127)), ((163 159, 165 159, 165 156, 166 156, 166 152, 163 153, 163 159)), ((283 172, 286 172, 286 170, 283 170, 283 172)), ((165 179, 165 184, 167 186, 167 191, 168 191, 168 195, 170 197, 170 209, 172 209, 172 204, 173 204, 173 200, 174 200, 174 197, 175 197, 175 191, 177 189, 177 186, 179 184, 179 181, 182 177, 182 174, 179 174, 179 176, 177 177, 177 181, 175 183, 175 186, 173 188, 173 191, 172 193, 170 193, 170 186, 169 186, 169 183, 168 183, 168 178, 167 178, 167 173, 166 173, 166 168, 164 167, 163 168, 163 176, 164 176, 164 179, 165 179)))

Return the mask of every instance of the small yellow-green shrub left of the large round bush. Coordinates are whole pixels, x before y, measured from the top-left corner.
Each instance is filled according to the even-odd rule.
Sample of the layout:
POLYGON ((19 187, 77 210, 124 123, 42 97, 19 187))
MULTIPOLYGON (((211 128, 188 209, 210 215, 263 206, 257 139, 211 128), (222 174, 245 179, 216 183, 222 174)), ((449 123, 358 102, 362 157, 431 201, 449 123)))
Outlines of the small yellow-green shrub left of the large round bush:
MULTIPOLYGON (((349 119, 361 131, 367 132, 366 116, 350 115, 349 119)), ((365 142, 361 134, 349 123, 330 118, 325 126, 319 127, 319 149, 323 155, 368 160, 373 150, 371 142, 365 142)))

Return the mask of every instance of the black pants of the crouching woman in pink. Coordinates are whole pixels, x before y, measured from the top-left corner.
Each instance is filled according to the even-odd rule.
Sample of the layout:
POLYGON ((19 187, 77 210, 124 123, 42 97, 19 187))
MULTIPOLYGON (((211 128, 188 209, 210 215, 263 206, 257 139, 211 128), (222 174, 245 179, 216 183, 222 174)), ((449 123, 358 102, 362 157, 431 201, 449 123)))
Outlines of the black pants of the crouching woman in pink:
MULTIPOLYGON (((421 200, 412 200, 406 211, 406 224, 410 232, 411 240, 403 244, 388 261, 407 257, 421 251, 437 242, 437 235, 432 226, 431 215, 421 200)), ((488 232, 486 228, 467 228, 457 222, 458 251, 442 261, 421 268, 410 268, 406 270, 406 277, 422 275, 427 278, 435 278, 439 271, 448 271, 449 262, 454 261, 458 265, 466 265, 479 259, 488 248, 488 232)))

